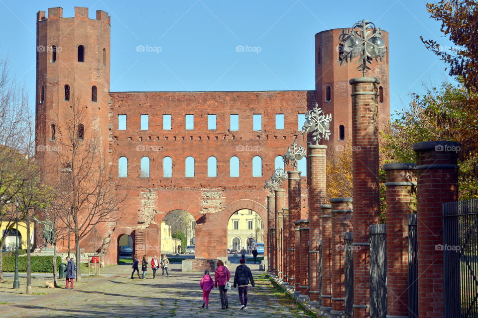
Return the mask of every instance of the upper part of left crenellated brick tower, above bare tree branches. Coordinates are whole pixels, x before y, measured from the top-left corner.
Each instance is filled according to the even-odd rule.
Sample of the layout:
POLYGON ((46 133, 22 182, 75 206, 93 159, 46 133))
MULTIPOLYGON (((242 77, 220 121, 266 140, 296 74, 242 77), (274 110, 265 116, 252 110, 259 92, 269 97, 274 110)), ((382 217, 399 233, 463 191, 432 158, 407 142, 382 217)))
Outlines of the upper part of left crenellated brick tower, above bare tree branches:
MULTIPOLYGON (((75 7, 74 17, 63 17, 63 8, 37 13, 36 52, 36 152, 45 173, 58 173, 59 134, 68 134, 66 116, 73 103, 83 109, 82 138, 100 139, 103 159, 108 157, 110 91, 110 17, 75 7), (52 171, 48 168, 57 164, 52 171)), ((35 238, 41 238, 35 227, 35 238)), ((36 240, 37 243, 43 240, 36 240)))

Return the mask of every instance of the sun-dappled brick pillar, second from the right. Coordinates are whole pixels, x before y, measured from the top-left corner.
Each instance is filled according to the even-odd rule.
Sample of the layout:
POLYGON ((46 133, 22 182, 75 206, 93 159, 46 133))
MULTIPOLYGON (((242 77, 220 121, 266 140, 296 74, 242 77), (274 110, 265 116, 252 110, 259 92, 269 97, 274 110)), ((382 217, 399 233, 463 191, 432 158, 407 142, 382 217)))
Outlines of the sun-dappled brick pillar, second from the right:
POLYGON ((408 214, 416 212, 415 163, 387 163, 387 309, 408 317, 408 214))

